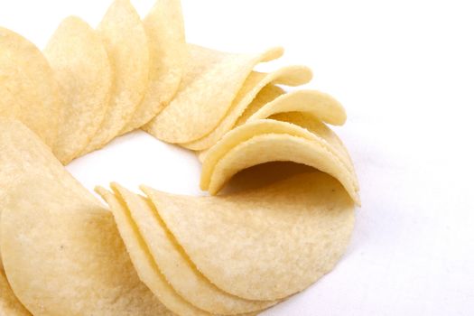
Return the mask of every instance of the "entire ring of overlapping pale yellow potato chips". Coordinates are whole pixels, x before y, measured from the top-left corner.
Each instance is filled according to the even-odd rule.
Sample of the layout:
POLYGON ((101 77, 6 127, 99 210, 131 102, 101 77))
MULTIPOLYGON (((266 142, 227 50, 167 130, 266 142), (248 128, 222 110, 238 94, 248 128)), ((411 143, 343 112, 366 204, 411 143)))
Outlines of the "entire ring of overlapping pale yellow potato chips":
POLYGON ((0 48, 0 313, 256 315, 349 245, 358 179, 328 126, 346 112, 280 87, 308 83, 307 67, 254 70, 282 48, 186 43, 179 0, 157 0, 143 21, 116 0, 96 30, 69 17, 44 55, 0 28, 0 48), (107 209, 62 166, 137 128, 194 150, 210 196, 112 183, 96 189, 107 209), (220 192, 244 170, 256 184, 251 168, 272 162, 318 171, 220 192))

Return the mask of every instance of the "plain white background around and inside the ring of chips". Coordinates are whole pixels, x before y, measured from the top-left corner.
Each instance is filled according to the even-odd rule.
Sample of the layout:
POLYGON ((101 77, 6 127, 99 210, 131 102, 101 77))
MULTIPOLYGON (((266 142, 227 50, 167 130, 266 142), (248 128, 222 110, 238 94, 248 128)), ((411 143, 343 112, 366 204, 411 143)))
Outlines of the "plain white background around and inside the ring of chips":
MULTIPOLYGON (((141 14, 153 0, 135 1, 141 14)), ((363 207, 349 251, 265 315, 474 315, 474 8, 469 1, 183 0, 189 42, 252 52, 283 45, 309 85, 347 108, 337 132, 363 207)), ((109 1, 0 2, 0 25, 43 47, 60 19, 96 25, 109 1)), ((0 96, 1 98, 1 96, 0 96)), ((199 191, 200 163, 143 133, 71 163, 92 189, 120 181, 199 191)))

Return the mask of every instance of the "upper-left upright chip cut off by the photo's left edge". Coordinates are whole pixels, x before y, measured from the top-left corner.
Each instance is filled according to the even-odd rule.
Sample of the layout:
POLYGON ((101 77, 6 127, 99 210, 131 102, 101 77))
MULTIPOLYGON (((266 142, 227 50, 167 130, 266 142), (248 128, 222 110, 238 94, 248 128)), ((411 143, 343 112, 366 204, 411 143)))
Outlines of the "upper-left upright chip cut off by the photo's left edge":
POLYGON ((52 147, 61 111, 58 83, 42 52, 0 27, 0 116, 23 122, 52 147))

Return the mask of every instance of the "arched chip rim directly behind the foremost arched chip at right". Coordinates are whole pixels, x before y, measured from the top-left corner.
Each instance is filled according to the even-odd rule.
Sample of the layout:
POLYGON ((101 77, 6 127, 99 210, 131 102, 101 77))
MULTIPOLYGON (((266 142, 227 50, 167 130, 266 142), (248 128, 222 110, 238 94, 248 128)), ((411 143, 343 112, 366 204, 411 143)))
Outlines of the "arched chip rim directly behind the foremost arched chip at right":
MULTIPOLYGON (((305 122, 299 114, 284 114, 281 118, 286 121, 277 121, 274 119, 259 119, 245 125, 238 126, 220 140, 218 144, 209 149, 209 152, 203 157, 202 172, 200 178, 200 188, 202 190, 209 190, 210 182, 214 177, 215 169, 223 157, 225 157, 237 145, 245 143, 257 135, 279 134, 279 135, 293 135, 302 137, 309 141, 316 142, 329 152, 334 159, 338 161, 343 168, 349 171, 352 184, 358 190, 358 181, 356 172, 352 162, 350 161, 348 153, 344 146, 340 143, 339 138, 330 131, 330 129, 318 122, 310 119, 305 122), (301 124, 301 125, 299 125, 301 124), (312 129, 305 128, 311 124, 312 129)), ((269 151, 267 150, 267 153, 269 151)), ((222 184, 221 184, 222 185, 222 184)), ((214 189, 217 190, 217 189, 214 189)), ((214 192, 214 191, 211 191, 214 192)), ((216 191, 217 192, 217 191, 216 191)))

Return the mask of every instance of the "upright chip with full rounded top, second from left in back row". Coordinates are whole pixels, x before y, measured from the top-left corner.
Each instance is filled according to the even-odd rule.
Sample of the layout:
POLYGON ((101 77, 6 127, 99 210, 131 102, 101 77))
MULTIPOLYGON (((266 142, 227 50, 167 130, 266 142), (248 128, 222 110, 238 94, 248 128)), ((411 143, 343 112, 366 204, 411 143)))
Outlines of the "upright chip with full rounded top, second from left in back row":
POLYGON ((62 21, 43 52, 65 103, 53 152, 67 164, 86 147, 104 120, 112 71, 98 33, 79 17, 62 21))

